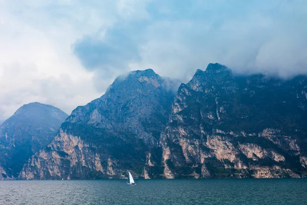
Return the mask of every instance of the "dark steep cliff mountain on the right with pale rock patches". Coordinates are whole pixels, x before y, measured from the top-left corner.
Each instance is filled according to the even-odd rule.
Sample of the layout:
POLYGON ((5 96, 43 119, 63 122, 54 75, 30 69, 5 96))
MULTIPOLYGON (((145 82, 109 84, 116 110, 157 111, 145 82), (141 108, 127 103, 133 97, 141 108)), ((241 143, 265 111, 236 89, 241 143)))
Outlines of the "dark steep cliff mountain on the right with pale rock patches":
POLYGON ((161 136, 165 177, 304 176, 306 92, 304 76, 198 70, 180 86, 161 136))

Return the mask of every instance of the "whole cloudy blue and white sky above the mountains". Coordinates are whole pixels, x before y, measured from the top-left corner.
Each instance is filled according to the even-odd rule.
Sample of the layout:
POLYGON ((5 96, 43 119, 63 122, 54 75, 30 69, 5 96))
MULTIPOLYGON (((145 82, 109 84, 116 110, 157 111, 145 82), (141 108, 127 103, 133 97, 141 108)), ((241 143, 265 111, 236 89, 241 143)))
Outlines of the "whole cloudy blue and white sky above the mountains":
POLYGON ((305 0, 0 0, 0 121, 38 101, 68 114, 120 74, 184 83, 236 73, 307 74, 305 0))

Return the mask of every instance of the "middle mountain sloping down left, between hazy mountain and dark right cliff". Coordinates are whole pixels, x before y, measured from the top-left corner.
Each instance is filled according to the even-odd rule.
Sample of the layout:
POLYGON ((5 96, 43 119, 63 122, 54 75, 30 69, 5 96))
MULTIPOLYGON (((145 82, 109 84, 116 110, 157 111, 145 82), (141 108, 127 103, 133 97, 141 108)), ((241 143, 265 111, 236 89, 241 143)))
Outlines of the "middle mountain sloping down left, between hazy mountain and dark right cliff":
POLYGON ((72 112, 19 178, 119 178, 127 170, 158 178, 160 136, 175 95, 171 85, 151 69, 118 77, 103 96, 72 112))

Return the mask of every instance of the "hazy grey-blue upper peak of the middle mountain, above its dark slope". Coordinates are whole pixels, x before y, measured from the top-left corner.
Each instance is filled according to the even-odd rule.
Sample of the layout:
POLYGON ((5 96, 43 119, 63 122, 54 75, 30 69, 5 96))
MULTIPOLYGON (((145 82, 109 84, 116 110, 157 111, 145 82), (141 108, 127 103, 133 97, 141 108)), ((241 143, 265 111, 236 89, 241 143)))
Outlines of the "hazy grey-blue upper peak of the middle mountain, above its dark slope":
POLYGON ((174 97, 169 87, 170 80, 151 69, 131 71, 116 78, 99 99, 75 109, 67 122, 107 129, 113 134, 125 130, 128 136, 156 147, 174 97), (154 129, 150 127, 153 124, 157 124, 154 129))

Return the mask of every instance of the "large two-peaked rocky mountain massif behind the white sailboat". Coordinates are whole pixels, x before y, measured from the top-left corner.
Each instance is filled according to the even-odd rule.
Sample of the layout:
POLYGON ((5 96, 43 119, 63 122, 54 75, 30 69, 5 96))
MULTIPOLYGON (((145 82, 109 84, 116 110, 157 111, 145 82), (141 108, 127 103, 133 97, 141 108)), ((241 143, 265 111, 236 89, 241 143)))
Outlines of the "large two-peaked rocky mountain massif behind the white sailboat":
POLYGON ((152 70, 76 108, 19 179, 307 176, 307 77, 197 70, 173 94, 152 70))

